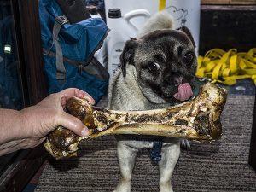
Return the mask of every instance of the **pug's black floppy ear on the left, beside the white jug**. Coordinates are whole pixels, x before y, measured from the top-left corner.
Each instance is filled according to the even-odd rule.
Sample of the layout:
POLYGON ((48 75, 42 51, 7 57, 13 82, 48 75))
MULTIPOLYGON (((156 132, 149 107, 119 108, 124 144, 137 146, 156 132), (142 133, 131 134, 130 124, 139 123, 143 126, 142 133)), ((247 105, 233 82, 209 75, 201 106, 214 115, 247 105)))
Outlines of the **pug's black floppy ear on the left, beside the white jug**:
POLYGON ((133 62, 133 55, 136 47, 137 39, 131 38, 131 40, 126 41, 123 53, 120 55, 120 66, 124 77, 126 75, 126 64, 133 62))

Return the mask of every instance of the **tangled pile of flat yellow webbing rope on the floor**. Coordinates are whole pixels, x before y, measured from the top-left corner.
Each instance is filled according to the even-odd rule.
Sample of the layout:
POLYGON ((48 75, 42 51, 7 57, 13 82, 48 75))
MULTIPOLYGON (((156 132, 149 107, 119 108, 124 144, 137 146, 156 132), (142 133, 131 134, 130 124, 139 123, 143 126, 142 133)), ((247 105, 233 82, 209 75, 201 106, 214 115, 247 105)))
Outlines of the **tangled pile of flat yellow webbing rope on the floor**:
POLYGON ((237 53, 236 49, 209 50, 198 57, 196 76, 228 85, 236 84, 236 79, 253 79, 256 84, 256 48, 247 53, 237 53))

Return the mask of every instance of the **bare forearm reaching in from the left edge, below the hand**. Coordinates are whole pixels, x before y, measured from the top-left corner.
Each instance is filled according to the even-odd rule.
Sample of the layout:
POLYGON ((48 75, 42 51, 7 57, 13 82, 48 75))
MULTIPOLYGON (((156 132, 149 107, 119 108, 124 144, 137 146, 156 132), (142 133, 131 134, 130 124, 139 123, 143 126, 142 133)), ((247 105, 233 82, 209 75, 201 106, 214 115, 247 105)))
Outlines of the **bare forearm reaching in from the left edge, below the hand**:
POLYGON ((35 122, 40 125, 40 119, 33 115, 32 108, 21 111, 0 109, 0 156, 35 147, 44 141, 44 137, 32 139, 32 127, 35 122))

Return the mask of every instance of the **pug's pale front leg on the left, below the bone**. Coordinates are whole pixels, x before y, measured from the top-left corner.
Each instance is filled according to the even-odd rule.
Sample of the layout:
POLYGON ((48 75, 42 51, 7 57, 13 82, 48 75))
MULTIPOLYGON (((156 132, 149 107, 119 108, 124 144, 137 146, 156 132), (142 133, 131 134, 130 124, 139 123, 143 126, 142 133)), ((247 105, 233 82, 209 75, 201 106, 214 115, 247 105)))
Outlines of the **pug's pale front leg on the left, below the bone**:
POLYGON ((129 146, 131 141, 119 141, 117 153, 121 179, 113 192, 131 192, 131 174, 135 164, 137 148, 129 146))

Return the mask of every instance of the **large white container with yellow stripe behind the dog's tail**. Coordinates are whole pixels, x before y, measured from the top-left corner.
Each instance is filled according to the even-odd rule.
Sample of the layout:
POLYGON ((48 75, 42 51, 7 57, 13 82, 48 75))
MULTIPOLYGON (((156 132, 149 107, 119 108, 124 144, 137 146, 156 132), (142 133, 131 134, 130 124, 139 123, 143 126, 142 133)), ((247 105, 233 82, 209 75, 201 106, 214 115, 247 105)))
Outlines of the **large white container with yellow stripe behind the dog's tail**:
MULTIPOLYGON (((154 15, 158 11, 166 9, 173 16, 176 28, 180 26, 189 28, 195 40, 196 53, 200 35, 200 6, 200 0, 105 0, 106 13, 108 13, 108 9, 113 8, 119 8, 123 15, 135 9, 145 9, 150 15, 154 15)), ((139 18, 135 18, 134 23, 137 24, 137 28, 143 25, 139 18)), ((123 30, 125 31, 125 28, 123 30)))

